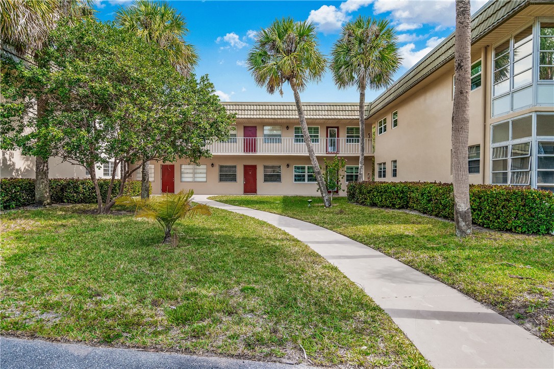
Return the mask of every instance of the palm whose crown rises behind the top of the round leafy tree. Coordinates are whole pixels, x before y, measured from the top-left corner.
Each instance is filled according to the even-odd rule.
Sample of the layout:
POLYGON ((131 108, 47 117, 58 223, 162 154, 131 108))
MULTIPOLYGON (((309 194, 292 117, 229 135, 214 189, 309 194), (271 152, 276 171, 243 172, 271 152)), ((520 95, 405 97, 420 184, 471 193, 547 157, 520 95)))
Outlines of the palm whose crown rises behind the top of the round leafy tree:
MULTIPOLYGON (((115 23, 129 32, 135 32, 147 43, 158 45, 166 50, 171 64, 182 75, 188 75, 198 64, 198 54, 194 46, 187 44, 184 36, 188 33, 187 22, 181 13, 165 2, 139 0, 127 8, 116 12, 115 23)), ((142 161, 141 198, 147 198, 150 181, 148 163, 142 161)))

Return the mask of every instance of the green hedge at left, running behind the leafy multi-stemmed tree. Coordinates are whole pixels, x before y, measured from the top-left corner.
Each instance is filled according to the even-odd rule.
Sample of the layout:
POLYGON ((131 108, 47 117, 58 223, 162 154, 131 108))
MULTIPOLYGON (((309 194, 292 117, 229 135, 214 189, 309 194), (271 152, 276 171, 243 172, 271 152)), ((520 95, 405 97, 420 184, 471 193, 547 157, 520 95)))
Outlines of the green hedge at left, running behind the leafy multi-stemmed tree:
MULTIPOLYGON (((2 178, 0 180, 0 209, 34 204, 34 183, 32 178, 2 178)), ((119 192, 121 180, 114 181, 114 196, 119 192)), ((99 179, 98 185, 102 199, 106 200, 110 179, 99 179)), ((140 196, 141 181, 127 180, 125 195, 140 196)), ((150 186, 152 193, 152 186, 150 186)), ((50 179, 50 199, 52 202, 69 204, 95 204, 96 191, 91 179, 54 178, 50 179)))

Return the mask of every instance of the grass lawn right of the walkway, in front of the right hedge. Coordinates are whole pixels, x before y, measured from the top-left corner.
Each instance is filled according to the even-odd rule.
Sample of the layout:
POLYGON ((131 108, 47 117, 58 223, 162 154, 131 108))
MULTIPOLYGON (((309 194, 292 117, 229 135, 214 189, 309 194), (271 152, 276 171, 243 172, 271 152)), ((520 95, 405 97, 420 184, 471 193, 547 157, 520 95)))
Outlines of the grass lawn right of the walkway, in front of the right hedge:
POLYGON ((457 238, 451 222, 335 198, 216 196, 213 200, 305 220, 371 246, 490 304, 554 344, 554 237, 474 231, 457 238), (307 207, 307 199, 313 199, 307 207), (520 278, 518 278, 520 277, 520 278), (524 277, 522 279, 521 277, 524 277))

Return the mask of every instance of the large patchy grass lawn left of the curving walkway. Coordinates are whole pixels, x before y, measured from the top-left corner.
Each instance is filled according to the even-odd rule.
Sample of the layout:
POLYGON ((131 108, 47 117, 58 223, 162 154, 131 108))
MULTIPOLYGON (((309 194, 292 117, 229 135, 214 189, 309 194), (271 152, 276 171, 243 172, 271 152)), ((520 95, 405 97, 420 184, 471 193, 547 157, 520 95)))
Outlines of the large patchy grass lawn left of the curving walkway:
POLYGON ((367 295, 287 233, 213 209, 176 224, 2 215, 1 332, 316 365, 429 367, 367 295), (304 359, 304 351, 308 360, 304 359))

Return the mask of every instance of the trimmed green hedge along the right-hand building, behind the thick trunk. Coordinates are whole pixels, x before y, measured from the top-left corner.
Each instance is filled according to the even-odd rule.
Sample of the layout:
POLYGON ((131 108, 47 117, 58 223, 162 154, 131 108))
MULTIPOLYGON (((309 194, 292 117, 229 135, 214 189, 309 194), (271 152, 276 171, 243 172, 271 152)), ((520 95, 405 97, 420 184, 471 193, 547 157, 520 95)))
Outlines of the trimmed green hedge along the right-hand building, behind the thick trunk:
MULTIPOLYGON (((454 219, 452 184, 429 182, 352 182, 348 201, 413 209, 454 219)), ((554 232, 554 194, 516 186, 470 185, 473 222, 486 228, 517 233, 554 232)))

